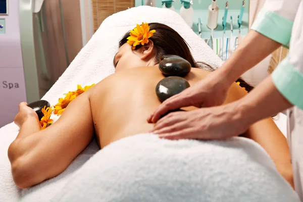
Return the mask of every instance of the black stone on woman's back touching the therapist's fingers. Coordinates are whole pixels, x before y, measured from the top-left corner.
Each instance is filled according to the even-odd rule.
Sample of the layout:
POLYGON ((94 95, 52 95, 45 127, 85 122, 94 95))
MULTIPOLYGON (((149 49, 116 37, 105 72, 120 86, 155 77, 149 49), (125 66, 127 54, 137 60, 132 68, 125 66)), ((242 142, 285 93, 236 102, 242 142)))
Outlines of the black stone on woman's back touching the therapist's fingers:
POLYGON ((170 76, 162 79, 156 86, 156 94, 161 102, 188 88, 188 81, 179 76, 170 76))

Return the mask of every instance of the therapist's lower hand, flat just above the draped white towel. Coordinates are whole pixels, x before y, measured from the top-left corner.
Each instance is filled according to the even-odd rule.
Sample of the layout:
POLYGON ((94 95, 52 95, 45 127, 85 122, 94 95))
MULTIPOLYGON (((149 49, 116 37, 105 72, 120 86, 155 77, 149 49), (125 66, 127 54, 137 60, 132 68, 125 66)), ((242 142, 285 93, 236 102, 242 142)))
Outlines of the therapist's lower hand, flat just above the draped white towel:
POLYGON ((234 105, 173 112, 161 118, 151 131, 166 139, 223 139, 244 133, 249 124, 234 105))

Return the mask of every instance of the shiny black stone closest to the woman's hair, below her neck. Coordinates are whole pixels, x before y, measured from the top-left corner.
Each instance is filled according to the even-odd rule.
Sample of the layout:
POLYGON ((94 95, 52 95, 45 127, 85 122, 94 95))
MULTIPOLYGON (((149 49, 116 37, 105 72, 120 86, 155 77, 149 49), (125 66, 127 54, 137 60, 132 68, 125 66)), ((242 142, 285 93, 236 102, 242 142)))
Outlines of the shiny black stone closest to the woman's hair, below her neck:
POLYGON ((163 57, 164 59, 160 62, 159 69, 165 76, 184 77, 190 72, 191 65, 187 60, 179 56, 163 57))

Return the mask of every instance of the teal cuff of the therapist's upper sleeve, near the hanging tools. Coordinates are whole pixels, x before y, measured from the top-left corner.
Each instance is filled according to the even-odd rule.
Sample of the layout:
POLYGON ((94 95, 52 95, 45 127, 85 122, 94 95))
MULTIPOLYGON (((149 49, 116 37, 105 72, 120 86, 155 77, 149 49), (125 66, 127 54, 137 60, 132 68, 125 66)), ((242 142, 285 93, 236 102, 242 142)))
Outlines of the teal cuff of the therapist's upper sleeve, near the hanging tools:
POLYGON ((292 25, 291 20, 263 8, 251 29, 287 46, 291 37, 292 25))

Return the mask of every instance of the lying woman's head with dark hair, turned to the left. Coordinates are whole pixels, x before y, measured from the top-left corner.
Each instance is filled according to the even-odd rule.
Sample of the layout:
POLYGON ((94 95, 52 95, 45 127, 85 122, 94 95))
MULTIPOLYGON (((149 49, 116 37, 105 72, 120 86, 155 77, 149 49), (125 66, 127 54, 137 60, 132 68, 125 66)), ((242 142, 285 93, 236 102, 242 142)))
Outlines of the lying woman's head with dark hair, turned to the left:
POLYGON ((132 46, 127 43, 127 32, 119 42, 119 51, 114 58, 116 71, 125 68, 153 66, 160 62, 163 55, 176 55, 197 67, 185 40, 172 28, 161 23, 150 23, 150 30, 156 30, 144 45, 132 46), (118 63, 118 64, 117 64, 118 63), (117 66, 116 66, 117 64, 117 66))

